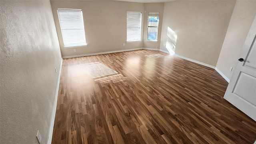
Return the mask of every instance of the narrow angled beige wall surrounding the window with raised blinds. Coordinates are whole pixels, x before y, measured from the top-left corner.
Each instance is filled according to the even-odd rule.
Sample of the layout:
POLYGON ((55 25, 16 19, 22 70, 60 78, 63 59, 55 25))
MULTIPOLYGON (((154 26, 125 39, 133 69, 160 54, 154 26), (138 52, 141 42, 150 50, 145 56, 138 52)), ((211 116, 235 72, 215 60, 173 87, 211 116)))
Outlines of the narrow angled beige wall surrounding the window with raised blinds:
POLYGON ((164 3, 145 3, 144 10, 144 30, 143 30, 143 48, 160 48, 162 22, 164 16, 164 3), (147 30, 148 30, 148 13, 149 12, 159 12, 159 26, 158 26, 158 42, 149 42, 147 40, 147 30))

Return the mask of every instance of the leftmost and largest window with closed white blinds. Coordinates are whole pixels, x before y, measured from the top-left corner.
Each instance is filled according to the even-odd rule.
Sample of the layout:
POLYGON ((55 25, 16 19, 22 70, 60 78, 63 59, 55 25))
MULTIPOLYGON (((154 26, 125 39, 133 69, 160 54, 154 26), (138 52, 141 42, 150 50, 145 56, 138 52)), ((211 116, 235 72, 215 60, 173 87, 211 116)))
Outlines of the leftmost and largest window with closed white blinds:
POLYGON ((86 46, 82 10, 58 8, 64 47, 86 46))

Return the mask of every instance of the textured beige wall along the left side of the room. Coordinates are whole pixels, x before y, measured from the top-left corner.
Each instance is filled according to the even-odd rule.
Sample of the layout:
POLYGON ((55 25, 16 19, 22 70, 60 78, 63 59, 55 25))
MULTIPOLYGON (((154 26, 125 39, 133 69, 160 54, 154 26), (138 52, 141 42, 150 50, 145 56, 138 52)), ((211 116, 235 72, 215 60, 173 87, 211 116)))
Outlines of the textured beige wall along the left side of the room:
POLYGON ((61 61, 50 1, 0 6, 0 143, 38 144, 39 130, 46 144, 61 61))

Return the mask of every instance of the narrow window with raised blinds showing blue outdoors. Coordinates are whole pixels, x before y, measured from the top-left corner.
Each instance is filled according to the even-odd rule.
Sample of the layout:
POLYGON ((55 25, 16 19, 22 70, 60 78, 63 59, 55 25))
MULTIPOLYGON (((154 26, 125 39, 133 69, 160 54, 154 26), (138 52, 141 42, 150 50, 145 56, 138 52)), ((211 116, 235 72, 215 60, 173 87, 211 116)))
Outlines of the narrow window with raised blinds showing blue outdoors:
POLYGON ((147 40, 157 41, 158 24, 159 24, 159 12, 158 13, 149 12, 147 40))

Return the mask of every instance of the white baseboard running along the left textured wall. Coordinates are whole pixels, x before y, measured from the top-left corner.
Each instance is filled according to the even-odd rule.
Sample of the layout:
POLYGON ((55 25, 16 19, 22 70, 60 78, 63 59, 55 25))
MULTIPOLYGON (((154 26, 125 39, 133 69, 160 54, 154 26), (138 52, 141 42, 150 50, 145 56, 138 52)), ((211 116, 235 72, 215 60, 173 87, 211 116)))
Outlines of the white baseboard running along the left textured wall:
POLYGON ((52 134, 53 134, 54 119, 55 119, 56 108, 57 108, 57 99, 58 99, 58 92, 59 92, 59 86, 60 86, 60 74, 61 74, 61 69, 62 69, 62 61, 63 61, 63 59, 61 58, 61 60, 60 60, 60 71, 59 71, 58 82, 57 82, 57 89, 56 89, 55 98, 54 98, 54 105, 53 105, 53 109, 52 109, 52 118, 51 118, 51 123, 50 123, 50 133, 49 133, 47 144, 52 144, 52 134))

